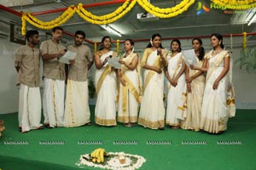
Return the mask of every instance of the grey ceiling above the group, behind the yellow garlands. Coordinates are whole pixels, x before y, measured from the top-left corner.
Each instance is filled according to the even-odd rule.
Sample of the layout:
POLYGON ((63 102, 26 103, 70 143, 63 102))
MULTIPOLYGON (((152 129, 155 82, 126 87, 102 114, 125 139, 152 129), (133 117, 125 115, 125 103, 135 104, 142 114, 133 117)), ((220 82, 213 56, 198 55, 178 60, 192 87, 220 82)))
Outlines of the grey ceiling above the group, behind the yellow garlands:
MULTIPOLYGON (((25 12, 42 12, 56 8, 67 8, 69 5, 77 5, 78 3, 91 4, 91 3, 102 3, 102 2, 113 2, 114 0, 34 0, 32 5, 11 7, 16 11, 25 12)), ((179 3, 180 0, 151 0, 152 4, 159 8, 171 8, 175 4, 179 3)), ((255 9, 247 11, 233 11, 224 10, 217 8, 210 8, 210 12, 197 15, 198 3, 205 3, 210 8, 211 1, 196 1, 192 6, 189 7, 188 11, 183 14, 179 14, 174 18, 170 19, 159 19, 152 21, 137 20, 137 14, 144 13, 145 10, 138 4, 125 16, 116 22, 109 24, 115 30, 122 33, 122 37, 117 37, 114 34, 105 31, 101 26, 93 25, 82 18, 78 14, 68 20, 62 27, 65 31, 74 33, 77 30, 83 30, 86 32, 86 38, 92 41, 99 41, 103 36, 111 36, 113 39, 124 40, 126 38, 132 39, 148 39, 154 33, 160 33, 162 37, 201 37, 209 36, 213 32, 221 34, 241 34, 243 31, 254 32, 256 29, 256 23, 247 26, 247 22, 252 18, 255 13, 255 9), (251 12, 251 15, 248 16, 251 12), (239 13, 239 14, 224 14, 224 13, 239 13)), ((98 6, 94 8, 87 8, 92 14, 102 15, 109 14, 118 8, 121 3, 98 6)), ((0 12, 3 12, 3 10, 0 12)), ((8 13, 9 14, 9 13, 8 13)), ((55 20, 61 13, 52 14, 41 14, 37 15, 38 19, 49 21, 55 20)), ((14 14, 9 14, 9 19, 20 23, 20 18, 14 14)), ((67 39, 72 37, 65 36, 67 39)), ((255 38, 255 36, 254 36, 255 38)))

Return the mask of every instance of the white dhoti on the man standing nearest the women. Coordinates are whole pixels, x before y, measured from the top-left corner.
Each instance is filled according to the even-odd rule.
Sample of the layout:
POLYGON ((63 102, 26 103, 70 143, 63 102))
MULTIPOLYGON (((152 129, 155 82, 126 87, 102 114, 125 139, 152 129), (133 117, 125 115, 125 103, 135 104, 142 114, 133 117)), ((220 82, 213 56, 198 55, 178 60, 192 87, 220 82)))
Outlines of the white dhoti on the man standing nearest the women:
POLYGON ((90 122, 88 95, 88 81, 67 80, 65 127, 79 127, 90 122))

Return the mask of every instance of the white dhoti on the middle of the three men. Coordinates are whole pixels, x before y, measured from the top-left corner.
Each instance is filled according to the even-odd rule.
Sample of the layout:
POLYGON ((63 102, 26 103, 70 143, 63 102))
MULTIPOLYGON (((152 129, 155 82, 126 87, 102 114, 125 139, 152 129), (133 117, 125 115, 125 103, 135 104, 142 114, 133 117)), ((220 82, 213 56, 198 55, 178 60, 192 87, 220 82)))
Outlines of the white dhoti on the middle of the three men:
POLYGON ((50 127, 64 126, 65 82, 44 77, 44 123, 50 127))

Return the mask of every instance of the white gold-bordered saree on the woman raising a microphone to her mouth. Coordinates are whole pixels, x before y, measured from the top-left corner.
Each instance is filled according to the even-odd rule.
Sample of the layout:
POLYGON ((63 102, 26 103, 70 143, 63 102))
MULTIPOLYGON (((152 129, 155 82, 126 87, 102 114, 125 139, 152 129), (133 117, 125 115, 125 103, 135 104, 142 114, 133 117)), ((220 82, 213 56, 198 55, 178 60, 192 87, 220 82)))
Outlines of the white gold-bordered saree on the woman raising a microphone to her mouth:
MULTIPOLYGON (((147 65, 154 65, 157 56, 157 51, 155 50, 148 56, 147 65)), ((148 74, 153 73, 148 82, 147 87, 144 89, 143 101, 140 109, 138 124, 143 127, 149 127, 152 129, 158 129, 159 127, 164 127, 165 125, 165 107, 164 107, 164 71, 160 74, 151 71, 144 71, 144 85, 148 74)))

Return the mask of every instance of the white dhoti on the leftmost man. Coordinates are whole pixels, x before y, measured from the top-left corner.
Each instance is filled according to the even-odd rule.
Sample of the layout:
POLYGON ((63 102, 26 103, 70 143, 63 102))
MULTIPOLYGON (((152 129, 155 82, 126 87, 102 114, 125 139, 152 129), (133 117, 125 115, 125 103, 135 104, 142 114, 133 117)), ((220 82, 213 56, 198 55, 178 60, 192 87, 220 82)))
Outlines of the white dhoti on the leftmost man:
POLYGON ((41 95, 40 88, 30 88, 20 84, 19 126, 22 132, 41 127, 41 95))

